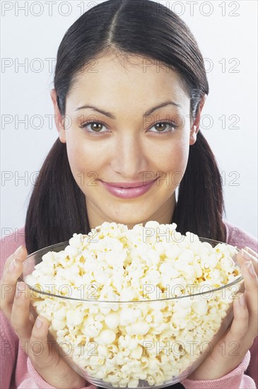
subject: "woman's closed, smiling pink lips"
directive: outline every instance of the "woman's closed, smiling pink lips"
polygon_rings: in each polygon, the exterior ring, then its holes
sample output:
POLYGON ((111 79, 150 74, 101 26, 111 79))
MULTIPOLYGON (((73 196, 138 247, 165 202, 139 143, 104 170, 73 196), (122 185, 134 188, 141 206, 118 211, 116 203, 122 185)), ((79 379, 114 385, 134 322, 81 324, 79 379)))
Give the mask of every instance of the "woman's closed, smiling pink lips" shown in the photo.
MULTIPOLYGON (((157 178, 156 178, 157 180, 157 178)), ((148 192, 154 182, 148 182, 148 184, 144 184, 141 181, 134 182, 104 182, 101 181, 104 187, 108 190, 108 192, 114 194, 117 197, 121 197, 123 199, 134 199, 135 197, 139 197, 142 194, 148 192)))

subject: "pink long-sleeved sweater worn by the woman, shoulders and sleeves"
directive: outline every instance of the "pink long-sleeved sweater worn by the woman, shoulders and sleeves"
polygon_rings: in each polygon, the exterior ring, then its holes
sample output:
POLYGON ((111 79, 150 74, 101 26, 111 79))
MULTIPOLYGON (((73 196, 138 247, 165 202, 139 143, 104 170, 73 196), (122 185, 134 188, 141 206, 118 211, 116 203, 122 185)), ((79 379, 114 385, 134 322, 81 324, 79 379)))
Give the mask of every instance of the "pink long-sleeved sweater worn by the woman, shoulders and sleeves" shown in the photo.
MULTIPOLYGON (((240 228, 225 222, 226 243, 244 248, 249 246, 257 252, 257 240, 240 228)), ((10 236, 1 239, 1 274, 6 258, 20 245, 25 245, 24 228, 16 229, 10 236)), ((55 389, 46 383, 35 371, 28 356, 20 346, 19 339, 11 324, 1 313, 1 389, 55 389)), ((241 364, 226 376, 213 381, 192 381, 185 379, 182 385, 186 389, 257 389, 258 388, 258 337, 254 340, 241 364), (244 372, 246 371, 246 374, 244 372)), ((87 389, 96 389, 86 383, 87 389)), ((83 388, 82 388, 83 389, 83 388)))

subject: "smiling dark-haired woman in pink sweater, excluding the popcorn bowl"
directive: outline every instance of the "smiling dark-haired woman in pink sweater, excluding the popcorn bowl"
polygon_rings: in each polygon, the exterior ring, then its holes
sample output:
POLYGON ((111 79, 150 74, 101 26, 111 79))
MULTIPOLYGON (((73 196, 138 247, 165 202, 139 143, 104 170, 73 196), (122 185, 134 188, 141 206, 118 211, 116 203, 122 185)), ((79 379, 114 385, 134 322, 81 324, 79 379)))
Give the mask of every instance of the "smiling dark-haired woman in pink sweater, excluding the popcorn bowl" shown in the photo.
POLYGON ((225 353, 218 344, 174 388, 256 387, 257 243, 240 229, 235 236, 235 227, 223 221, 221 178, 199 131, 208 93, 197 42, 165 6, 105 1, 66 32, 51 93, 59 139, 31 196, 25 241, 11 237, 2 248, 3 388, 94 386, 50 349, 47 320, 34 323, 29 315, 28 290, 23 282, 16 286, 26 249, 88 233, 103 221, 131 228, 148 220, 245 248, 238 260, 246 291, 221 339, 225 353), (232 342, 240 344, 234 356, 232 342))

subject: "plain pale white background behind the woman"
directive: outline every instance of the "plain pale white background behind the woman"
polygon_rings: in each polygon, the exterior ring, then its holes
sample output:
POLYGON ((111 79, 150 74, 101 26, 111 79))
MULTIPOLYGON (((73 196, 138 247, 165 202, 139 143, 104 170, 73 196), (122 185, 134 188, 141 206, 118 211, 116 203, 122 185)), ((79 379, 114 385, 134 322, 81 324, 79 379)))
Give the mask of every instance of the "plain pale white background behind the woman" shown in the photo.
MULTIPOLYGON (((210 93, 201 129, 223 175, 226 219, 257 236, 257 1, 158 2, 189 25, 205 58, 210 93)), ((52 59, 82 7, 97 4, 52 1, 49 15, 48 3, 1 1, 1 236, 24 225, 33 182, 57 139, 46 116, 54 114, 52 59)))

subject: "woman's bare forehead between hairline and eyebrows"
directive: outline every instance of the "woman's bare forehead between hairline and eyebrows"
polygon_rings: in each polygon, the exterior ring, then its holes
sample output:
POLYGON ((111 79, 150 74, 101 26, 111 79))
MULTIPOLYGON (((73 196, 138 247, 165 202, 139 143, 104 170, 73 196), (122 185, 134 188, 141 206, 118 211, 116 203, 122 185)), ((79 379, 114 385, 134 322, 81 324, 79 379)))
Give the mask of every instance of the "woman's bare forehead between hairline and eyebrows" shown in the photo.
POLYGON ((100 91, 102 94, 127 91, 139 97, 151 91, 181 97, 187 93, 178 71, 137 54, 110 54, 92 59, 76 74, 67 98, 100 91))

